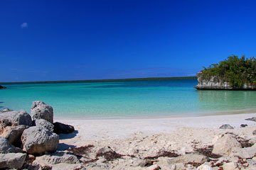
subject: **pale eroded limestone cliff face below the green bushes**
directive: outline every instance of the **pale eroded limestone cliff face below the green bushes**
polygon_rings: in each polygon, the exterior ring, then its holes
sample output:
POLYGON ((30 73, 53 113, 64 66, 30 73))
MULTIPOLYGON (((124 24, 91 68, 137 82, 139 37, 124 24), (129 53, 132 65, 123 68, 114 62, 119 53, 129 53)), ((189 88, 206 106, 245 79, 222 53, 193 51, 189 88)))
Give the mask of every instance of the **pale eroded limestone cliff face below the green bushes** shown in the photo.
POLYGON ((221 81, 218 77, 210 77, 210 80, 202 78, 202 72, 198 72, 198 85, 194 86, 196 89, 202 90, 256 90, 254 87, 244 84, 242 89, 235 89, 228 84, 227 81, 221 81))

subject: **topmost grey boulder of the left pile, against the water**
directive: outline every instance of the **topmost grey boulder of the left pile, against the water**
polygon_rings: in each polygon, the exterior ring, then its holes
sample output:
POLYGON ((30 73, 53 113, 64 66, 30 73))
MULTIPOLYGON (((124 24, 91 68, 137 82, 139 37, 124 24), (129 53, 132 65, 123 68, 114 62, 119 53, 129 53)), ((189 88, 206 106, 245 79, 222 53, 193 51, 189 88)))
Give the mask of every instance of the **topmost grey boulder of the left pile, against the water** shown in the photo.
POLYGON ((35 119, 44 119, 53 123, 53 108, 43 101, 33 101, 31 106, 31 117, 35 119))

